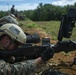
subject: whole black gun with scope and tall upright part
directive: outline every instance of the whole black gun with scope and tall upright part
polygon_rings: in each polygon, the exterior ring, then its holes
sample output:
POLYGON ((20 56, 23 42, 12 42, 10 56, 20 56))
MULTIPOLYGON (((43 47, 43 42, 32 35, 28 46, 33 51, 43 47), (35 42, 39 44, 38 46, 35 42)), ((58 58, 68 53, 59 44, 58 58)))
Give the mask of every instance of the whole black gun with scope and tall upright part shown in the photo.
POLYGON ((35 59, 41 55, 42 52, 44 52, 48 47, 52 47, 55 50, 55 53, 57 52, 69 52, 76 50, 76 43, 73 41, 62 41, 62 38, 70 38, 72 34, 73 27, 75 25, 75 9, 70 9, 66 15, 62 17, 59 34, 58 34, 58 42, 55 45, 50 44, 49 38, 43 38, 42 39, 42 45, 32 45, 32 43, 40 42, 40 37, 38 34, 30 35, 28 33, 25 33, 27 35, 27 41, 26 44, 22 47, 13 50, 13 51, 3 51, 0 50, 0 58, 6 58, 10 56, 14 56, 17 58, 16 61, 21 61, 22 57, 26 57, 26 59, 35 59), (21 59, 19 59, 19 57, 21 59), (19 60, 18 60, 19 59, 19 60))

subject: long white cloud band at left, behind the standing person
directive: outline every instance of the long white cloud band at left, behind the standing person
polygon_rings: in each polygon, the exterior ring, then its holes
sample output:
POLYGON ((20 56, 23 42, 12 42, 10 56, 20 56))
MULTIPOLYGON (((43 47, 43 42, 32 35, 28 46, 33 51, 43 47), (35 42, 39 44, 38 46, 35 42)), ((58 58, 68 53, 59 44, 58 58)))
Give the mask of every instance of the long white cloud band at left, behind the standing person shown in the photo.
MULTIPOLYGON (((38 4, 20 4, 20 5, 16 5, 15 9, 20 11, 20 10, 30 10, 30 9, 36 9, 38 6, 38 4)), ((2 11, 8 11, 10 10, 11 5, 4 5, 1 6, 0 5, 0 10, 2 11)))

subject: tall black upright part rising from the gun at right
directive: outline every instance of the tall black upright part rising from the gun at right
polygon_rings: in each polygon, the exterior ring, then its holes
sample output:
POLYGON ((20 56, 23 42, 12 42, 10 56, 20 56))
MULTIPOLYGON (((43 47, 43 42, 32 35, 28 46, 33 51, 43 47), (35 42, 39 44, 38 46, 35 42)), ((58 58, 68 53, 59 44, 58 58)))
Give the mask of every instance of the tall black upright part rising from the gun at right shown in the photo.
POLYGON ((73 27, 75 27, 76 11, 69 9, 68 13, 63 15, 61 25, 58 33, 58 40, 62 41, 62 38, 70 38, 72 35, 73 27))

